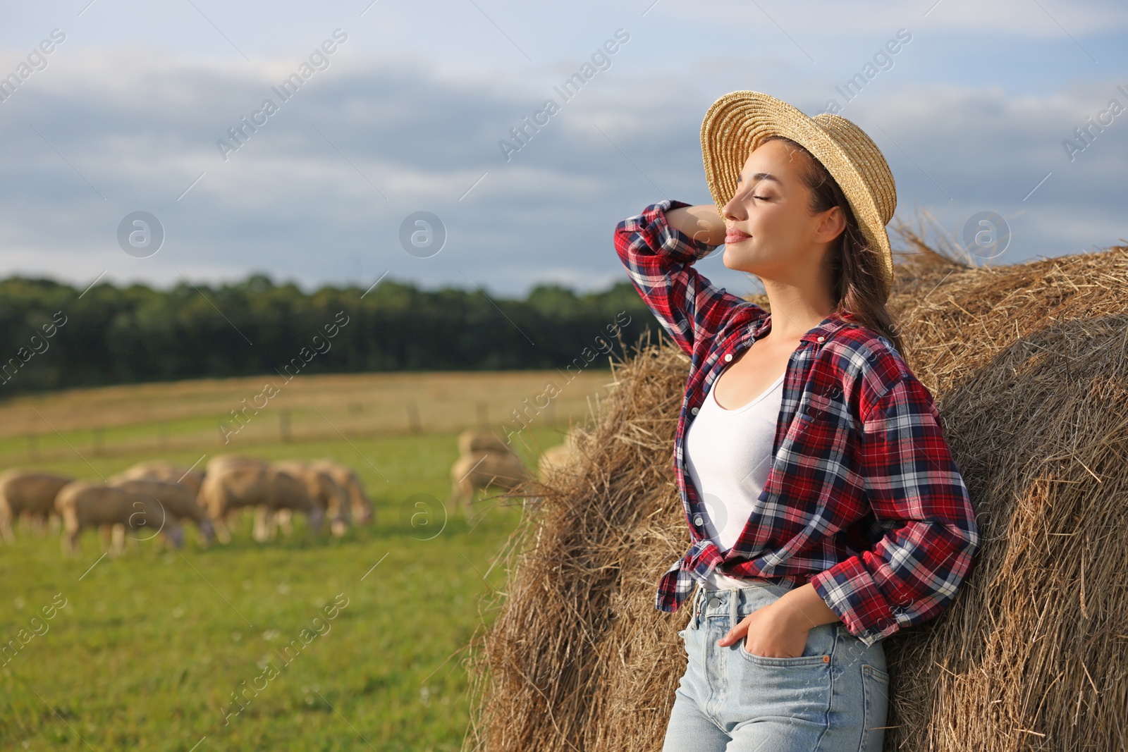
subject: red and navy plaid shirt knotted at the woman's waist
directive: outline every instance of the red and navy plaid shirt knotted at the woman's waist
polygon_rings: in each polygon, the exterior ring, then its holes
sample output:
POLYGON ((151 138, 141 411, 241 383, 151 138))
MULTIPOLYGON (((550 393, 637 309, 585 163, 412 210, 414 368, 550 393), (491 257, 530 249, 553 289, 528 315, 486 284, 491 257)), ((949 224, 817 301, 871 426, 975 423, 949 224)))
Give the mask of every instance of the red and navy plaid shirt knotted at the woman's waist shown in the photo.
POLYGON ((713 286, 693 263, 717 246, 666 222, 663 201, 619 222, 615 249, 635 289, 690 357, 675 472, 691 546, 662 575, 655 608, 677 611, 714 568, 795 587, 810 582, 866 645, 936 616, 955 595, 979 529, 932 395, 887 338, 832 313, 791 355, 756 511, 726 552, 686 483, 684 436, 729 362, 772 329, 763 308, 713 286))

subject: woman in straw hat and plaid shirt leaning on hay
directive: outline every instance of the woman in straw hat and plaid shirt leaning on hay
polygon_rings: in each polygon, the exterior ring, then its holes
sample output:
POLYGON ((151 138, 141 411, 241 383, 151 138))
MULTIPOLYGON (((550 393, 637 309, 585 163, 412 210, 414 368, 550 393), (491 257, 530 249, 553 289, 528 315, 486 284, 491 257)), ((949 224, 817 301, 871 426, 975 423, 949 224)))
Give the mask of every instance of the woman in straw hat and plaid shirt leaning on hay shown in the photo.
POLYGON ((675 462, 693 545, 655 607, 697 591, 664 749, 880 750, 880 640, 936 616, 979 546, 885 308, 893 177, 852 122, 756 91, 714 103, 702 147, 716 206, 663 201, 615 236, 690 356, 675 462), (694 269, 721 244, 770 315, 694 269))

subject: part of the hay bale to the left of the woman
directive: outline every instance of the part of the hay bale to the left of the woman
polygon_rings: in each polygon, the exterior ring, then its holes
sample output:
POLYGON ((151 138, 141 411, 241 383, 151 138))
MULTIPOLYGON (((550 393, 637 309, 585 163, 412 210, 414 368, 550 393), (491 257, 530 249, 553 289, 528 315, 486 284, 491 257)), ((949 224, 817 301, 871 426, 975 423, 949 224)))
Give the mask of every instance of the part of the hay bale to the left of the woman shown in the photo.
MULTIPOLYGON (((538 752, 603 749, 592 746, 592 734, 615 729, 589 716, 606 717, 605 702, 629 698, 634 705, 647 695, 650 708, 640 708, 636 728, 653 731, 654 714, 672 692, 678 649, 678 627, 653 609, 653 581, 662 559, 681 554, 686 537, 668 466, 687 368, 680 351, 645 344, 629 365, 613 365, 614 390, 599 401, 590 435, 578 442, 579 457, 541 488, 539 512, 514 532, 509 596, 470 654, 482 728, 473 737, 488 750, 538 752), (647 516, 654 511, 663 513, 647 516), (646 642, 624 639, 624 628, 647 630, 646 642), (616 699, 613 684, 629 681, 620 648, 634 648, 653 671, 616 699)), ((618 749, 646 749, 635 746, 637 740, 631 734, 618 749)))

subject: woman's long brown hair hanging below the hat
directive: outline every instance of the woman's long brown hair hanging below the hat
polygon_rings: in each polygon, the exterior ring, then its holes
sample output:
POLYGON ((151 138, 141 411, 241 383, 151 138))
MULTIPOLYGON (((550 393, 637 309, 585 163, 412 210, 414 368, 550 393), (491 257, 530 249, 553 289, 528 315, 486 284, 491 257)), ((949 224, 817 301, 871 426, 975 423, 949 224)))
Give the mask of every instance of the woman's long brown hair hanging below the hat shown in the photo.
POLYGON ((854 211, 838 182, 822 162, 801 144, 782 135, 769 135, 760 144, 768 141, 784 141, 807 156, 800 176, 811 191, 811 202, 808 206, 811 214, 839 206, 846 218, 846 229, 829 255, 835 311, 851 313, 858 324, 870 327, 893 343, 897 352, 904 355, 905 348, 897 330, 897 322, 885 307, 885 301, 892 291, 881 273, 882 262, 878 256, 880 250, 866 244, 865 236, 862 235, 854 211))

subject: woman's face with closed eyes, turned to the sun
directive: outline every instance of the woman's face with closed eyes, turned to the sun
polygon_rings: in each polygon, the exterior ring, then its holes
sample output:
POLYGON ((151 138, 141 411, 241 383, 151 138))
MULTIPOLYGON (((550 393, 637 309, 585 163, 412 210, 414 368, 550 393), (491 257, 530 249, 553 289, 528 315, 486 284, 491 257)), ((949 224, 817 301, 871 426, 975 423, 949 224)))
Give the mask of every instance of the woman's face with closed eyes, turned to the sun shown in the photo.
POLYGON ((779 281, 821 268, 829 242, 846 224, 837 206, 810 214, 811 192, 800 176, 804 157, 783 141, 768 141, 749 154, 737 193, 721 212, 728 228, 725 266, 779 281))

